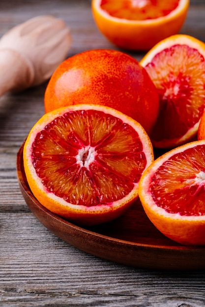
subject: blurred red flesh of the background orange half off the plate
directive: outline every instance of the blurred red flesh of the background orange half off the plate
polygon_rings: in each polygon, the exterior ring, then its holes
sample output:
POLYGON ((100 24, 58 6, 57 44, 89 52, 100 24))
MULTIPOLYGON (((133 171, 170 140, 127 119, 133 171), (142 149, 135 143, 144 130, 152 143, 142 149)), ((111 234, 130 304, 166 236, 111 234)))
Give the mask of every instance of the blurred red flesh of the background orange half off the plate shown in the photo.
POLYGON ((102 0, 100 6, 113 17, 127 20, 149 20, 167 16, 179 0, 102 0))

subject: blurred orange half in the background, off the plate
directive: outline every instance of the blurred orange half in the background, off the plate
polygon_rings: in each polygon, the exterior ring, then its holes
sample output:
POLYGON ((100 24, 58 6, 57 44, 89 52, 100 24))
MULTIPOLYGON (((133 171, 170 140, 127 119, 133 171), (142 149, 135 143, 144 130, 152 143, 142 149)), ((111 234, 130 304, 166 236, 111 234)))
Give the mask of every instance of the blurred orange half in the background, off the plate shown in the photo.
POLYGON ((99 30, 115 45, 149 50, 182 27, 189 0, 92 0, 99 30))

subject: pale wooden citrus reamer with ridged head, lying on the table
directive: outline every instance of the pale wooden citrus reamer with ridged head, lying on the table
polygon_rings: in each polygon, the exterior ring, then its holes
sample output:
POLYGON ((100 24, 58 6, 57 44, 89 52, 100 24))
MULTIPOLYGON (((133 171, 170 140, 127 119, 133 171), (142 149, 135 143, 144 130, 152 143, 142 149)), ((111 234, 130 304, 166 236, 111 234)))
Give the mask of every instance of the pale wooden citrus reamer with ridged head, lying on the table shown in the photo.
POLYGON ((70 45, 69 28, 53 16, 38 16, 13 27, 0 39, 0 96, 51 77, 70 45))

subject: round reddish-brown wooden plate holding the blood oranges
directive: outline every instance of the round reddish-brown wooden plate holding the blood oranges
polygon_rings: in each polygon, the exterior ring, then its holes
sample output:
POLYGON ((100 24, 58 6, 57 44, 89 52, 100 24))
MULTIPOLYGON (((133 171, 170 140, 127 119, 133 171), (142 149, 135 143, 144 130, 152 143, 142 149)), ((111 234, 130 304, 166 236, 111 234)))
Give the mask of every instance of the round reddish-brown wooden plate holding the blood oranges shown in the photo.
POLYGON ((205 247, 182 246, 165 237, 148 220, 140 201, 112 222, 86 228, 47 210, 29 189, 23 166, 23 146, 17 155, 20 189, 36 218, 59 238, 89 254, 133 267, 205 269, 205 247))

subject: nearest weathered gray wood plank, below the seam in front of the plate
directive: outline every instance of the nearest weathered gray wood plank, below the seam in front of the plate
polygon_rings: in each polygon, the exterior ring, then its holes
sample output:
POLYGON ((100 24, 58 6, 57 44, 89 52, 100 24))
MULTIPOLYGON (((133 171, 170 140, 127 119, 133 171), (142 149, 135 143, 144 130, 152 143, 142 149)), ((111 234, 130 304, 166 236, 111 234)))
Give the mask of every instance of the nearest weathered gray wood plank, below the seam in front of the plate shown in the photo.
POLYGON ((3 306, 205 304, 204 273, 137 270, 101 260, 55 237, 31 213, 0 214, 0 234, 7 241, 0 240, 3 306))

